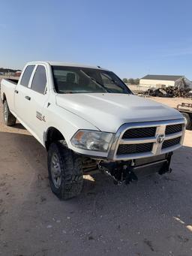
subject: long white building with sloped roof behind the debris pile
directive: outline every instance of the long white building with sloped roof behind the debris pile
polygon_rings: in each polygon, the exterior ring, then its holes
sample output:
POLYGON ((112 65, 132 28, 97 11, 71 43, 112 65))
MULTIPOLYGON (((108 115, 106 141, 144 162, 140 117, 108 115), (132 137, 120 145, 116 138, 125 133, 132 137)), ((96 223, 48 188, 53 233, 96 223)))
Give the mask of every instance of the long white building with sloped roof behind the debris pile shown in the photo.
POLYGON ((169 76, 148 74, 139 80, 139 86, 157 87, 157 86, 175 86, 181 80, 187 80, 184 76, 169 76))

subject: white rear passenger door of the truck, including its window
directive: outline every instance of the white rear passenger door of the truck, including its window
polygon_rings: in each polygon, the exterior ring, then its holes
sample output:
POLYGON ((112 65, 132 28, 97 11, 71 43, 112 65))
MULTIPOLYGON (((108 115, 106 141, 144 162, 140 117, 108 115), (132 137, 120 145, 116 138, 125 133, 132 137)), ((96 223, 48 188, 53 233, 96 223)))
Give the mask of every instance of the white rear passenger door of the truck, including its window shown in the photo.
POLYGON ((35 65, 28 65, 23 72, 20 83, 18 83, 14 90, 14 109, 17 118, 30 128, 30 84, 32 73, 34 72, 35 65))

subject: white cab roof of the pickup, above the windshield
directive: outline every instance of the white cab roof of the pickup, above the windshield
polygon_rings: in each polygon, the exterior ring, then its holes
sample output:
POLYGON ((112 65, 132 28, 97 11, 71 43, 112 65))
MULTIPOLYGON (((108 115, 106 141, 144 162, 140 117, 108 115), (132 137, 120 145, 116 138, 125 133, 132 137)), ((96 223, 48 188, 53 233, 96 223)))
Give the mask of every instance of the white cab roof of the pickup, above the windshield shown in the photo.
POLYGON ((89 66, 80 63, 68 63, 68 62, 28 62, 27 65, 31 64, 49 64, 51 66, 65 66, 65 67, 76 67, 76 68, 94 68, 107 71, 106 68, 101 68, 100 66, 89 66))

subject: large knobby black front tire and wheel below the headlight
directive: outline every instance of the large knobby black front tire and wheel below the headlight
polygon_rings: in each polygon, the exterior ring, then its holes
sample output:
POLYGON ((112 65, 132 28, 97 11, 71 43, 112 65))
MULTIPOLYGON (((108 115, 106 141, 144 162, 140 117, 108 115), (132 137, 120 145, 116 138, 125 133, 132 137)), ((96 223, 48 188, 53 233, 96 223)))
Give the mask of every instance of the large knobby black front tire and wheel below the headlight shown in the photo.
POLYGON ((62 200, 76 197, 83 188, 82 158, 65 144, 52 143, 48 151, 49 182, 52 192, 62 200))

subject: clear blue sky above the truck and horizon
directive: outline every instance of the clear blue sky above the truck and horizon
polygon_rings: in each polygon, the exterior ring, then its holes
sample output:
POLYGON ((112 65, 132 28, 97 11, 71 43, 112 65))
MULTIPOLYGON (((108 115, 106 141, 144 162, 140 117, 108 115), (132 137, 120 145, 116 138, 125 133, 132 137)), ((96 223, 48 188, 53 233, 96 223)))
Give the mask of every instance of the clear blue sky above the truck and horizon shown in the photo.
POLYGON ((49 60, 192 80, 191 10, 190 0, 1 0, 0 67, 49 60))

